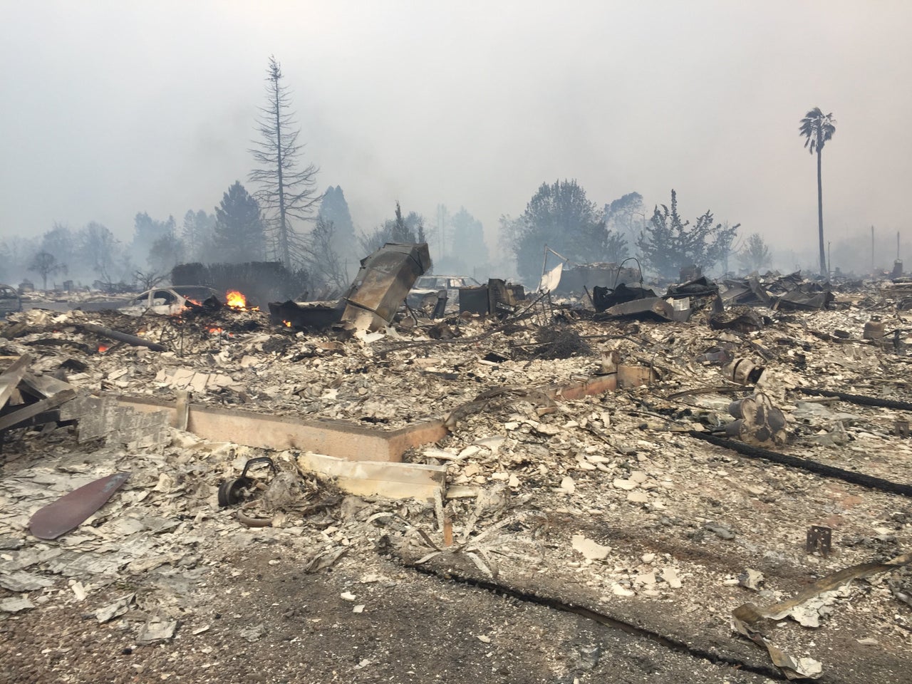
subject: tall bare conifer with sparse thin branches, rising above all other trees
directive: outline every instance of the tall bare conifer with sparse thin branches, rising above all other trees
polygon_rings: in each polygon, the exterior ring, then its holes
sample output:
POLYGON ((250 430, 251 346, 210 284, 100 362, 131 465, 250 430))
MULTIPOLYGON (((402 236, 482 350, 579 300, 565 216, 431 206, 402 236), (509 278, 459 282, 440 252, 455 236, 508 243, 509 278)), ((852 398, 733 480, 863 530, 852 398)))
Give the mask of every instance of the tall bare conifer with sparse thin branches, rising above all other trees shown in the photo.
POLYGON ((302 161, 304 145, 290 111, 288 88, 281 84, 282 67, 269 57, 266 68, 266 104, 256 119, 260 140, 251 153, 256 168, 250 181, 258 186, 254 193, 266 216, 278 259, 285 268, 305 261, 305 240, 293 222, 311 218, 320 194, 316 192, 316 166, 302 161))

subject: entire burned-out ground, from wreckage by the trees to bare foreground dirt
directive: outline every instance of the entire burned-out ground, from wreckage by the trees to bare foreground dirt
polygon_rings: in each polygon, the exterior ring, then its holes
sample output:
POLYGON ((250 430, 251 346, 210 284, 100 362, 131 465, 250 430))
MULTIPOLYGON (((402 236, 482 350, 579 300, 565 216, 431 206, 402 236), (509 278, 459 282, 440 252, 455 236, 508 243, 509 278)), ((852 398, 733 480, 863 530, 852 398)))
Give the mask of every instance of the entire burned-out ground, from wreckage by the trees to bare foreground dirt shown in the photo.
POLYGON ((361 264, 21 295, 7 680, 907 680, 912 280, 361 264))

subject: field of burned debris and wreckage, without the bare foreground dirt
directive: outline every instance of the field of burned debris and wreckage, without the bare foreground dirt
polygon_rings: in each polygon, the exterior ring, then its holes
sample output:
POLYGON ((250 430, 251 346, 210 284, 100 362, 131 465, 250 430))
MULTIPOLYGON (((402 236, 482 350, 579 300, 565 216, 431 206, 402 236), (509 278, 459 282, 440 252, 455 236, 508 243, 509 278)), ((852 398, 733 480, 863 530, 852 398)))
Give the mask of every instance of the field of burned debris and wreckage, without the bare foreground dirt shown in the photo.
MULTIPOLYGON (((855 596, 864 611, 834 630, 907 640, 912 287, 689 273, 660 289, 615 270, 610 287, 492 279, 406 306, 429 264, 426 244, 388 244, 328 302, 7 315, 0 610, 69 600, 63 576, 79 595, 98 573, 179 563, 188 534, 268 527, 294 531, 308 572, 382 549, 523 596, 545 573, 548 600, 762 671, 752 641, 790 679, 848 666, 785 654, 772 621, 815 652, 786 618, 820 627, 855 596), (57 562, 54 540, 87 524, 117 544, 57 562), (650 623, 656 602, 731 621, 650 623)), ((127 610, 111 606, 99 623, 127 610)), ((180 619, 149 617, 142 643, 180 619)))

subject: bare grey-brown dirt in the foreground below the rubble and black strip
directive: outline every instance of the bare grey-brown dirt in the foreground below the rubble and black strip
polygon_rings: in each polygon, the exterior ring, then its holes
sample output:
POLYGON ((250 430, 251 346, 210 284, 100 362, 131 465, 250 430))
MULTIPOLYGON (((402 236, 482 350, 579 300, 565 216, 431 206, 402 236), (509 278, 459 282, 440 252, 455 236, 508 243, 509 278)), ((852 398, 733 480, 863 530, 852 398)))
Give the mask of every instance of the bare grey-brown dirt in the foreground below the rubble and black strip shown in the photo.
MULTIPOLYGON (((88 606, 78 603, 13 617, 0 627, 0 679, 19 684, 767 679, 587 617, 419 574, 379 555, 369 576, 344 561, 306 575, 297 569, 302 561, 295 558, 294 545, 284 544, 251 544, 228 554, 192 588, 192 615, 161 644, 138 645, 129 614, 123 624, 98 625, 88 606), (356 598, 345 600, 343 594, 356 598), (365 606, 363 612, 353 612, 356 605, 365 606)), ((148 589, 112 586, 97 603, 125 592, 142 596, 148 589)))

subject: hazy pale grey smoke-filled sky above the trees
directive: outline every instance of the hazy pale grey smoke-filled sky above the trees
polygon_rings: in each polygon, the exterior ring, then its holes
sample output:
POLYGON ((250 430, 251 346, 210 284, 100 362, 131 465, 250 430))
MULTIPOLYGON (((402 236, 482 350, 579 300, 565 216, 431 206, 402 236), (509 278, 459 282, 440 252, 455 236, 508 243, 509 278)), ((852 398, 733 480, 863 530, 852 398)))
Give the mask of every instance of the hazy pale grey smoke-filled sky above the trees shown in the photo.
MULTIPOLYGON (((798 136, 832 111, 824 221, 907 234, 907 2, 0 0, 0 238, 55 221, 129 238, 136 212, 212 208, 251 167, 275 54, 318 185, 370 229, 398 199, 489 235, 543 181, 602 204, 671 188, 815 254, 816 167, 798 136)), ((252 188, 249 188, 252 190, 252 188)))

